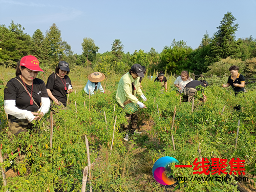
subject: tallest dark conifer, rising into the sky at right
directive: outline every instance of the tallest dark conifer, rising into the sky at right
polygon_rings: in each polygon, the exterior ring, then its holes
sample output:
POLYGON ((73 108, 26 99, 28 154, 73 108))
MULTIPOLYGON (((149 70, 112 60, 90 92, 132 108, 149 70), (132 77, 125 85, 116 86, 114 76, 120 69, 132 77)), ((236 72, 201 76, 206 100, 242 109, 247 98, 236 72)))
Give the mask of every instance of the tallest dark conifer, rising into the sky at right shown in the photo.
POLYGON ((214 36, 210 44, 211 56, 210 62, 219 61, 221 58, 239 58, 241 56, 241 50, 236 42, 236 31, 238 30, 238 24, 234 21, 237 20, 231 12, 227 12, 221 20, 219 29, 214 36))

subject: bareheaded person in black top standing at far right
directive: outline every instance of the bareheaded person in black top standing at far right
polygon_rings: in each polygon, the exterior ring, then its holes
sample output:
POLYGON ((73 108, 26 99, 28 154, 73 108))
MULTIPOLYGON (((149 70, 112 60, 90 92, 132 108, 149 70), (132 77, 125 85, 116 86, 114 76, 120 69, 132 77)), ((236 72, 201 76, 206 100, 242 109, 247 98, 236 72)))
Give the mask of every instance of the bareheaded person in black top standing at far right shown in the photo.
MULTIPOLYGON (((242 74, 238 73, 239 67, 231 66, 228 71, 230 71, 230 76, 228 77, 227 84, 222 84, 223 88, 231 86, 234 90, 234 94, 237 96, 239 93, 244 92, 245 78, 242 74)), ((236 110, 240 110, 241 106, 237 105, 234 107, 236 110)))

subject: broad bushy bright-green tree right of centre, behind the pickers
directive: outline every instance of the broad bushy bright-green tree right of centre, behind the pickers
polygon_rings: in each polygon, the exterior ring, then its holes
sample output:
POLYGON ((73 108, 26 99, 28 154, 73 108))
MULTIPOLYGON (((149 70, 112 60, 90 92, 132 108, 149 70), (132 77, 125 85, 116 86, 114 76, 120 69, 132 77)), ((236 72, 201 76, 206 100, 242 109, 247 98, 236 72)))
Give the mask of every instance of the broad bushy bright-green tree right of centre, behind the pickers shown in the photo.
POLYGON ((188 56, 192 49, 186 45, 183 40, 172 42, 172 46, 165 46, 161 55, 161 67, 167 67, 167 72, 179 74, 181 71, 188 68, 188 56))

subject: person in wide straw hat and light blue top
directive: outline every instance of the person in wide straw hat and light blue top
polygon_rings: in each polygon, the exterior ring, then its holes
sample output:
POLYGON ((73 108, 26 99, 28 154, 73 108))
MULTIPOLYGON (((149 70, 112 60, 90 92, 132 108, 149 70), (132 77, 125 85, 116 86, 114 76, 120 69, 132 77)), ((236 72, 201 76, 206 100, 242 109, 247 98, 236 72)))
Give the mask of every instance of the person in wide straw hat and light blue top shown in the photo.
POLYGON ((89 95, 89 93, 91 95, 94 95, 94 91, 100 90, 101 93, 105 93, 100 81, 103 81, 105 79, 105 75, 103 73, 100 72, 94 72, 91 73, 88 76, 88 81, 86 86, 83 88, 83 90, 89 95))

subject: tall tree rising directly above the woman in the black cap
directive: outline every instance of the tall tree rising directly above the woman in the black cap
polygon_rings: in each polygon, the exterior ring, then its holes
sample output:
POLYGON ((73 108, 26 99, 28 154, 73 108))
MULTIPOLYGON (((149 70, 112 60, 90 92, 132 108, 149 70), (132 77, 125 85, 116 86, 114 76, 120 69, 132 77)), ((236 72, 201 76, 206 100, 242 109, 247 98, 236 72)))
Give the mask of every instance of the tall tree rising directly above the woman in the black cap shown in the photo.
POLYGON ((50 29, 46 31, 46 40, 50 48, 49 55, 55 62, 59 61, 64 54, 65 48, 62 46, 61 31, 56 24, 52 24, 50 29))

